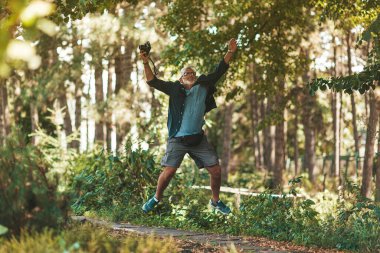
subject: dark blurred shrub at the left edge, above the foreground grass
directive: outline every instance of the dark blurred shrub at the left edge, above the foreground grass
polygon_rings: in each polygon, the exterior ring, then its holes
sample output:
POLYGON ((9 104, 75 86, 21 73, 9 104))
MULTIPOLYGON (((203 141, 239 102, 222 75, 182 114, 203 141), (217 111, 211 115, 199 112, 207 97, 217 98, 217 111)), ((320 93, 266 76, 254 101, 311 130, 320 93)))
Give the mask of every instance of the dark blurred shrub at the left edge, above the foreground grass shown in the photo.
POLYGON ((62 224, 65 198, 57 193, 57 181, 39 149, 14 130, 0 154, 0 224, 11 233, 62 224))

